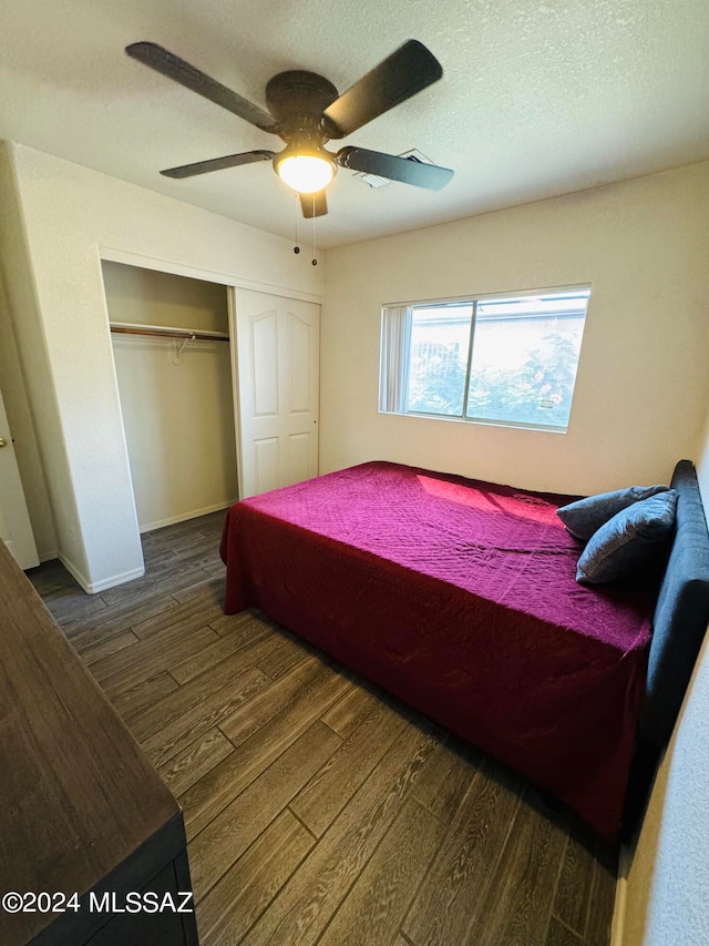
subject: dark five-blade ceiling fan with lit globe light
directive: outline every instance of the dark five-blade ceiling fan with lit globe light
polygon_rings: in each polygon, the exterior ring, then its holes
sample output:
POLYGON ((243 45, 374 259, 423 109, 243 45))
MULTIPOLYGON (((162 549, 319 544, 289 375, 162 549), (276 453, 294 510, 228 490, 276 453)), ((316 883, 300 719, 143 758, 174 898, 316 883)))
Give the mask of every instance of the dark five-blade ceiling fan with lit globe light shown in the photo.
POLYGON ((279 135, 286 143, 279 152, 245 151, 169 167, 161 171, 166 177, 192 177, 224 167, 271 161, 278 176, 300 194, 304 216, 314 217, 328 212, 325 187, 338 167, 434 191, 445 186, 453 176, 448 167, 380 151, 347 146, 332 153, 325 148, 330 139, 346 138, 441 78, 441 64, 418 40, 408 40, 342 95, 331 82, 315 72, 279 72, 266 85, 268 112, 156 43, 136 42, 125 51, 256 128, 279 135))

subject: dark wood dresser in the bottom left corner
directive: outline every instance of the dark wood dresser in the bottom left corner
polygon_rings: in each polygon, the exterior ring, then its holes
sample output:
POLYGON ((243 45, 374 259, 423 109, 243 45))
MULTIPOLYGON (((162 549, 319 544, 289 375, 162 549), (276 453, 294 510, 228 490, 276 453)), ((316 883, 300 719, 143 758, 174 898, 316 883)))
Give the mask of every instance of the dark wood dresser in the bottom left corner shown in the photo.
POLYGON ((0 944, 196 946, 191 889, 177 803, 0 541, 0 944))

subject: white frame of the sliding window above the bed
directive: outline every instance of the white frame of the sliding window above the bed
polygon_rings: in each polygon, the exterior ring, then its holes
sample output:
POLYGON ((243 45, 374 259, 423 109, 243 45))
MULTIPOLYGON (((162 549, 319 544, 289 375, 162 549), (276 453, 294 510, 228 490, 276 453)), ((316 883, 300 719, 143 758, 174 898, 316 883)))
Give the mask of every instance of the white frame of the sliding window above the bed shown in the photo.
MULTIPOLYGON (((574 396, 576 394, 576 380, 578 376, 578 368, 580 365, 582 352, 583 352, 583 342, 584 335, 586 330, 586 318, 588 316, 588 308, 590 306, 590 295, 592 295, 592 284, 590 283, 578 283, 569 286, 554 286, 554 287, 545 287, 545 288, 535 288, 535 289, 522 289, 518 292, 500 292, 500 293, 480 293, 470 296, 452 296, 449 298, 432 298, 432 299, 414 299, 408 302, 399 302, 399 303, 386 303, 381 307, 381 333, 383 337, 384 332, 384 322, 387 317, 387 311, 390 308, 405 308, 407 309, 407 322, 408 325, 404 329, 404 339, 405 339, 405 349, 402 359, 402 368, 403 376, 401 379, 401 397, 400 397, 400 410, 387 409, 382 407, 382 398, 381 398, 381 388, 380 388, 380 401, 379 401, 379 414, 391 414, 400 417, 421 417, 428 420, 453 420, 453 421, 463 421, 466 424, 480 424, 484 427, 510 427, 514 429, 521 430, 538 430, 542 433, 548 434, 567 434, 572 419, 572 410, 574 406, 574 396), (542 424, 540 421, 534 423, 525 423, 520 420, 492 420, 485 417, 474 417, 467 415, 467 403, 470 396, 470 382, 473 370, 473 349, 475 343, 475 323, 477 318, 477 306, 479 303, 485 302, 495 302, 495 301, 517 301, 524 298, 534 298, 534 297, 545 297, 545 296, 563 296, 565 294, 576 294, 576 293, 587 293, 586 298, 586 311, 584 314, 584 326, 582 329, 580 344, 578 349, 578 360, 576 363, 576 372, 574 375, 574 388, 572 393, 572 404, 569 407, 568 421, 566 425, 563 424, 542 424), (464 380, 464 389, 463 389, 463 406, 461 414, 436 414, 434 411, 425 411, 425 410, 408 410, 407 403, 409 399, 409 378, 410 378, 410 358, 411 358, 411 326, 412 326, 412 317, 413 311, 417 308, 443 308, 443 307, 454 307, 461 305, 470 305, 471 306, 471 321, 470 321, 470 336, 467 339, 467 360, 465 363, 465 380, 464 380)), ((383 370, 382 363, 383 348, 380 347, 380 379, 383 370)), ((381 383, 381 380, 380 380, 381 383)))

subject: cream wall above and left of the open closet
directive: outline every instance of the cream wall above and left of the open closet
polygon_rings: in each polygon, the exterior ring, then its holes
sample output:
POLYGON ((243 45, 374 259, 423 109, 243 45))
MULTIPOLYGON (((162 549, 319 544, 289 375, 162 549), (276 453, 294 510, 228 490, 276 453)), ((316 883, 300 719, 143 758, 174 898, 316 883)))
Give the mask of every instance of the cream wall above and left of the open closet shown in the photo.
POLYGON ((11 144, 32 304, 10 299, 59 552, 91 591, 140 574, 143 558, 121 420, 101 258, 319 301, 322 267, 286 240, 11 144))

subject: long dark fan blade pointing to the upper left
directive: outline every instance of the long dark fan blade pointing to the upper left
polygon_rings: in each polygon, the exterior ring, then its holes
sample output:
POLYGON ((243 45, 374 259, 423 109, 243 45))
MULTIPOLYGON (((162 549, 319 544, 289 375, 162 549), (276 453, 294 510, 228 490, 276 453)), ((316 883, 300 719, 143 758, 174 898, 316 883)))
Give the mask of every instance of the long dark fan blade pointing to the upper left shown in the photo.
POLYGON ((194 65, 189 65, 184 59, 179 59, 162 45, 152 42, 137 42, 126 45, 125 51, 130 57, 142 62, 143 65, 162 72, 168 79, 192 89, 193 92, 209 99, 210 102, 215 102, 228 112, 233 112, 240 119, 256 125, 256 128, 278 134, 280 126, 268 112, 227 89, 226 85, 222 85, 215 79, 205 75, 204 72, 195 69, 194 65))

